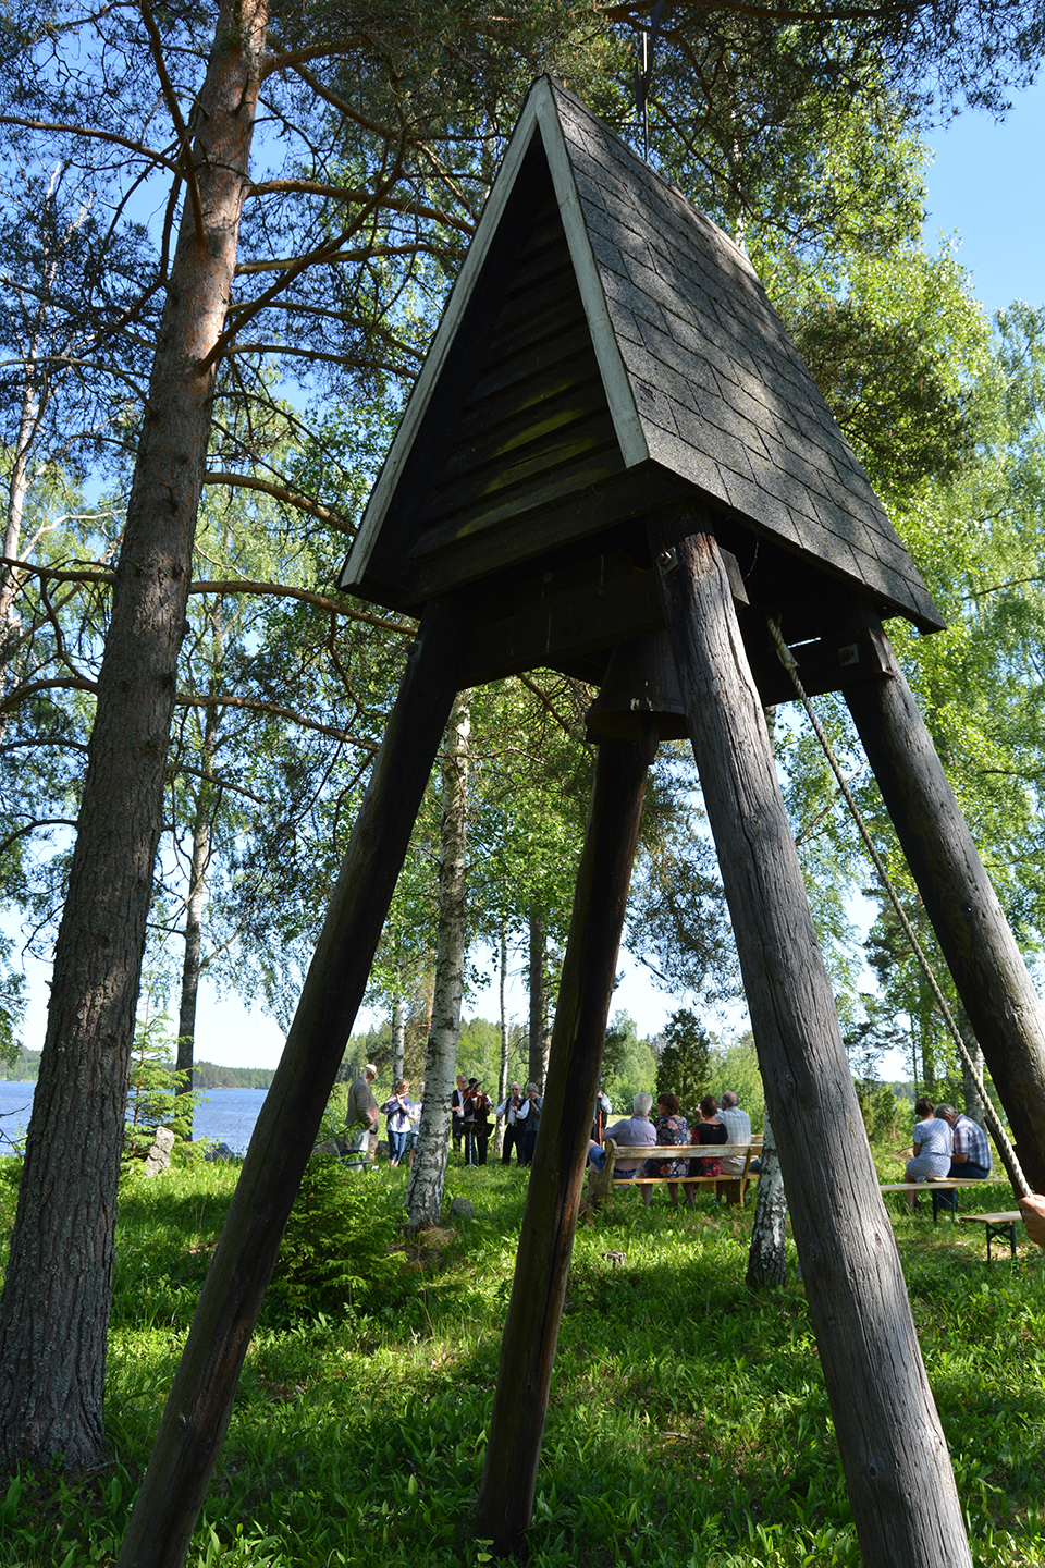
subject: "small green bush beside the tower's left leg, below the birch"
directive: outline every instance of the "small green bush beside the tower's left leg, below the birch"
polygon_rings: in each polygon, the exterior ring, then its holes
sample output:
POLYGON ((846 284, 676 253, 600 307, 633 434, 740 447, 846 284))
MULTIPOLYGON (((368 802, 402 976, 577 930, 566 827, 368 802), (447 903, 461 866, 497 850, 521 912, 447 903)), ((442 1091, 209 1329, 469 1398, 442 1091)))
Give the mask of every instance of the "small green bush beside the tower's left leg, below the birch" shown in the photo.
POLYGON ((389 1193, 340 1159, 313 1156, 284 1231, 265 1322, 285 1327, 395 1301, 404 1264, 393 1251, 400 1234, 398 1187, 389 1193))

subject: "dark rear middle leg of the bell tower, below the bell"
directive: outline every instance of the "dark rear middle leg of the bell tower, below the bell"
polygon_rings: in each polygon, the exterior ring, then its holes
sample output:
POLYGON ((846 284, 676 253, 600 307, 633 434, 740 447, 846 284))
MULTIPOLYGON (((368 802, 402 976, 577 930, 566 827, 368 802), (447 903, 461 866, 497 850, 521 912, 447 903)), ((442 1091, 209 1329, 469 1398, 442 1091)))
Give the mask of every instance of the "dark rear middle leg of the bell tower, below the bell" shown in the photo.
POLYGON ((476 1504, 476 1538, 498 1546, 517 1544, 533 1513, 647 756, 627 740, 598 746, 476 1504))

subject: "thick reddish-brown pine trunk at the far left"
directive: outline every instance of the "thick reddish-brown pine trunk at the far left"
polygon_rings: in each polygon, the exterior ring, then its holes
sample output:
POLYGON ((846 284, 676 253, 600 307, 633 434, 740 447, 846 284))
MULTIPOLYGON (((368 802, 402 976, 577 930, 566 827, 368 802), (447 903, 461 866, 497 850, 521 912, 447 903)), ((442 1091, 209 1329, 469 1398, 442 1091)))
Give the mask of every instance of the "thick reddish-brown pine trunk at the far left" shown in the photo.
POLYGON ((0 1305, 3 1461, 105 1461, 116 1187, 215 370, 248 190, 265 0, 222 0, 116 569, 0 1305))

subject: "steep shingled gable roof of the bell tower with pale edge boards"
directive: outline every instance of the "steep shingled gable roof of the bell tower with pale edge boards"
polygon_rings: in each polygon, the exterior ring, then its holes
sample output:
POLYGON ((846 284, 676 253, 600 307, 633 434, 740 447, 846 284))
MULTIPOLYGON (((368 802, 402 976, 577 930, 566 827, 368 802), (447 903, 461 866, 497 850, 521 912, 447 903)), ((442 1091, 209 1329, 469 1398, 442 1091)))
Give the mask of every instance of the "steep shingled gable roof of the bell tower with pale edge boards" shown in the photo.
MULTIPOLYGON (((515 387, 522 375, 512 370, 515 387)), ((548 519, 544 532, 533 519, 547 514, 553 472, 567 475, 567 500, 586 500, 561 510, 556 538, 696 491, 884 613, 923 630, 943 624, 747 257, 583 103, 541 78, 340 586, 417 608, 456 582, 539 557, 548 519), (572 278, 551 307, 547 279, 562 270, 572 278), (519 315, 525 289, 545 317, 559 312, 544 331, 539 315, 519 315), (567 397, 569 378, 556 379, 551 362, 577 326, 584 343, 567 397), (511 411, 498 414, 495 401, 512 328, 534 397, 551 409, 558 397, 562 408, 530 417, 525 430, 519 392, 511 411), (581 386, 592 389, 586 400, 581 386), (501 420, 494 434, 483 428, 487 416, 501 420)))

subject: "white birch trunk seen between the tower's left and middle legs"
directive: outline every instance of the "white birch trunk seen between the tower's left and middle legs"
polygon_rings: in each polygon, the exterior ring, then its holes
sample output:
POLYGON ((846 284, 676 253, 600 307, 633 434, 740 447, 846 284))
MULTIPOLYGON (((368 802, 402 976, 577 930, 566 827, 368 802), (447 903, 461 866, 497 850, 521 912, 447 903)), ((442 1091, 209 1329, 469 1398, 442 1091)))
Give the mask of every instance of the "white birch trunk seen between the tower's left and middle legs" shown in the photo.
POLYGON ((407 1223, 420 1231, 439 1225, 450 1154, 451 1096, 457 1040, 461 1038, 461 997, 464 993, 464 953, 467 947, 468 891, 468 735, 472 718, 468 693, 462 693, 447 724, 442 776, 443 803, 439 848, 439 927, 436 930, 436 985, 432 1027, 425 1057, 425 1099, 417 1149, 406 1189, 407 1223))

